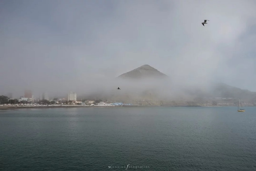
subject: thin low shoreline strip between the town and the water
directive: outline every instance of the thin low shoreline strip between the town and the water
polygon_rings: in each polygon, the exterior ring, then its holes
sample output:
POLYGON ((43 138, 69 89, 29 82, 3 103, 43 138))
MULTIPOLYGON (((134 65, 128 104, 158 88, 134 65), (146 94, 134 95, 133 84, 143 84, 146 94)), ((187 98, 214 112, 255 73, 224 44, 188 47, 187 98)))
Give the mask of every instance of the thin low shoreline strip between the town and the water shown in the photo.
POLYGON ((70 106, 0 106, 1 111, 14 111, 20 109, 45 109, 45 108, 81 108, 81 107, 235 107, 235 106, 81 106, 81 105, 70 105, 70 106))

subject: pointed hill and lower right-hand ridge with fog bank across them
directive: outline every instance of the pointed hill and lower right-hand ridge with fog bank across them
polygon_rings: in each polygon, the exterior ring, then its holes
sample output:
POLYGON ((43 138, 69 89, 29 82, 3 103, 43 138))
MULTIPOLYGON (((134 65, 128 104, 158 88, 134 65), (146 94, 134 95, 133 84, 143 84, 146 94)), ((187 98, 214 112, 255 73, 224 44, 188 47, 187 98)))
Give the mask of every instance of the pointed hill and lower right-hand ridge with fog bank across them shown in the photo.
MULTIPOLYGON (((209 103, 209 99, 212 98, 232 98, 233 100, 229 100, 228 102, 229 105, 234 105, 237 98, 239 98, 248 104, 250 103, 249 105, 254 105, 256 99, 255 92, 242 90, 224 83, 199 82, 198 84, 183 84, 183 82, 175 82, 170 79, 171 77, 168 77, 150 65, 142 65, 119 75, 117 78, 111 80, 111 83, 108 84, 109 86, 115 84, 116 86, 114 88, 106 86, 105 88, 108 87, 108 90, 101 89, 100 92, 93 92, 92 94, 88 94, 89 96, 87 97, 93 98, 97 96, 99 99, 126 103, 132 100, 144 99, 150 105, 164 105, 164 103, 160 103, 163 100, 184 100, 190 101, 194 105, 198 103, 201 105, 205 103, 208 105, 215 104, 215 102, 209 103), (121 90, 116 90, 115 88, 117 87, 120 87, 121 90), (201 100, 197 103, 198 98, 201 100)), ((172 105, 174 104, 176 103, 172 105)))

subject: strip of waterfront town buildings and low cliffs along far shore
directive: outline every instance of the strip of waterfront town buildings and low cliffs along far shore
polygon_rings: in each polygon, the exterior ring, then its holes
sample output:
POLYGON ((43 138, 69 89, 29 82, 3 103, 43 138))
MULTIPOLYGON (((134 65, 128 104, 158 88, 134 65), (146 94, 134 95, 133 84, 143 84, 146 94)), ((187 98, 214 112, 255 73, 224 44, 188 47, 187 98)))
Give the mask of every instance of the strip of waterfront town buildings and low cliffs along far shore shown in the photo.
MULTIPOLYGON (((121 98, 120 98, 121 99, 121 98)), ((233 97, 204 97, 194 99, 129 99, 129 100, 101 100, 90 98, 77 98, 77 93, 69 92, 66 98, 49 97, 43 92, 35 98, 31 90, 25 90, 24 96, 13 98, 12 93, 0 95, 0 110, 13 108, 38 108, 38 107, 121 107, 121 106, 237 106, 237 98, 233 97)), ((244 106, 254 104, 241 101, 244 106)))

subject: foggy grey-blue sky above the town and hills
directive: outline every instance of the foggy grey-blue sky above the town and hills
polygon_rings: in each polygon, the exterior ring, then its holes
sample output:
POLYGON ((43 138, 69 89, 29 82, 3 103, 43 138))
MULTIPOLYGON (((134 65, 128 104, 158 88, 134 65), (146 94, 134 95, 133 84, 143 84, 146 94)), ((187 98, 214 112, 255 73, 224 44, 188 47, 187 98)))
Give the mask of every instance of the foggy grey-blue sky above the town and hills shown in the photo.
POLYGON ((174 82, 256 91, 255 9, 253 0, 1 0, 0 94, 82 93, 144 64, 174 82))

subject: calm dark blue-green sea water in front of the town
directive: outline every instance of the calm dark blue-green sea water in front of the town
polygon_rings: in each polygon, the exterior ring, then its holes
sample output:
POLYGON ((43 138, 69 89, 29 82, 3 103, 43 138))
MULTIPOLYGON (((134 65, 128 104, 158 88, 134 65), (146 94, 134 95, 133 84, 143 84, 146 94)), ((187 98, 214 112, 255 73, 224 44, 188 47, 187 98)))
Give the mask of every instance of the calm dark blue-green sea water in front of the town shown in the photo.
POLYGON ((0 112, 0 170, 256 170, 256 107, 0 112), (136 168, 137 166, 137 168, 136 168))

